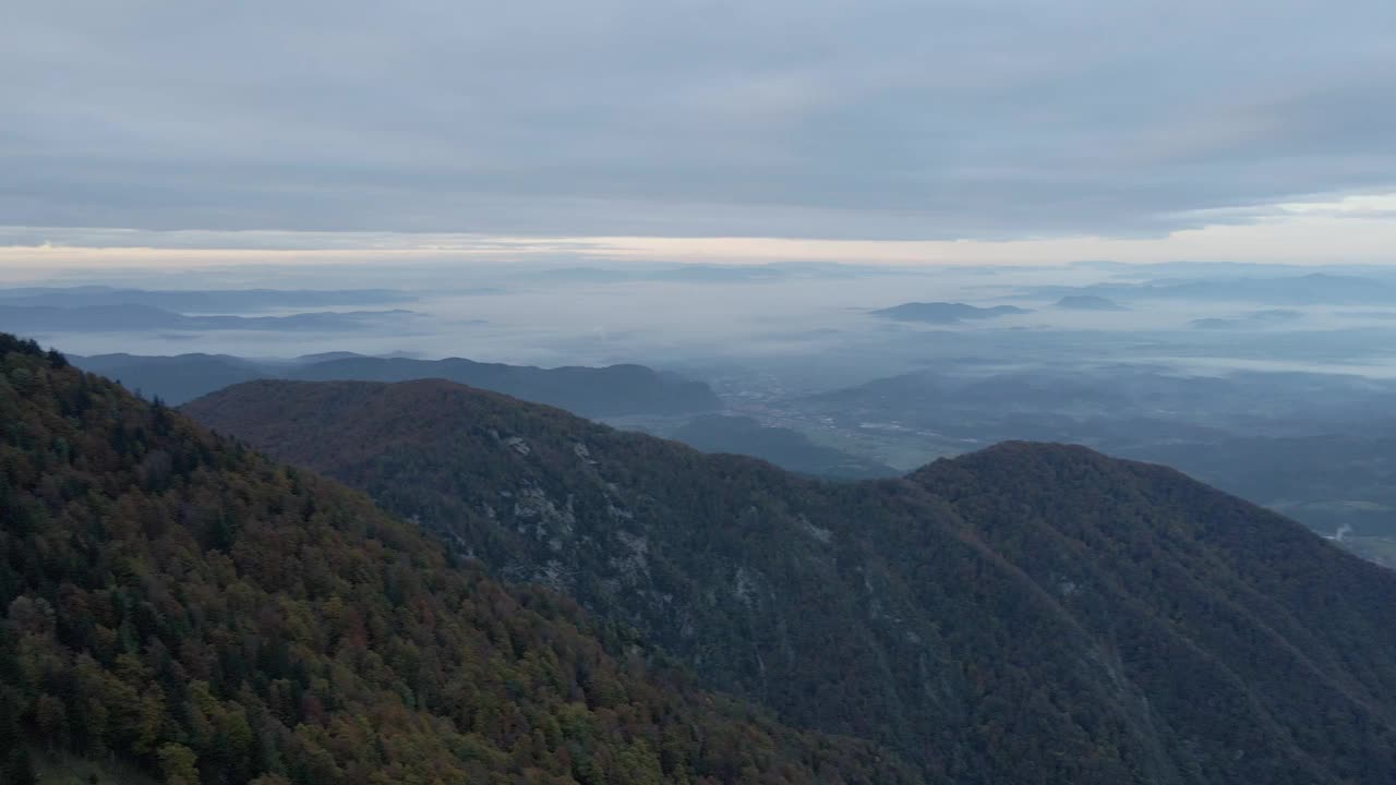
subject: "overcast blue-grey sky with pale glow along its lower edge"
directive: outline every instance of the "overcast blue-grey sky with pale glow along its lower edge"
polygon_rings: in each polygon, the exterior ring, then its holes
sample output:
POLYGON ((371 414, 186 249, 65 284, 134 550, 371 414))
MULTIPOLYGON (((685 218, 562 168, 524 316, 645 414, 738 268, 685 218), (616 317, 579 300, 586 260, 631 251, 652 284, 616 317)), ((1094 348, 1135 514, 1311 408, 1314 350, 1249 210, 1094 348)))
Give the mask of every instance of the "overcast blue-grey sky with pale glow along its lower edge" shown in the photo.
POLYGON ((0 270, 1390 261, 1396 3, 46 0, 0 270))

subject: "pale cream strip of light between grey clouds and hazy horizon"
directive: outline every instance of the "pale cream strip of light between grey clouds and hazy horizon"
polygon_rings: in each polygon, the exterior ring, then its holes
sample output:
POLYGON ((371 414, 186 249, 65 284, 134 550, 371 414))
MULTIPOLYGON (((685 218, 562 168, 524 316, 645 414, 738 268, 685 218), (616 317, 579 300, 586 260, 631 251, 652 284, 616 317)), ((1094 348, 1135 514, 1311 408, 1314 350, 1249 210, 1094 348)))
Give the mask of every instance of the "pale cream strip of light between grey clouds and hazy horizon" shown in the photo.
POLYGON ((1005 240, 831 240, 800 237, 521 237, 401 232, 202 232, 0 228, 0 274, 43 279, 102 271, 392 265, 399 263, 842 263, 874 265, 1061 265, 1231 261, 1383 264, 1396 261, 1396 194, 1277 205, 1265 215, 1156 237, 1062 236, 1005 240), (45 237, 40 243, 17 237, 45 237))

